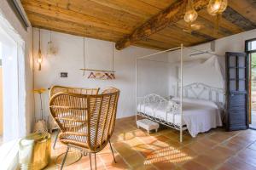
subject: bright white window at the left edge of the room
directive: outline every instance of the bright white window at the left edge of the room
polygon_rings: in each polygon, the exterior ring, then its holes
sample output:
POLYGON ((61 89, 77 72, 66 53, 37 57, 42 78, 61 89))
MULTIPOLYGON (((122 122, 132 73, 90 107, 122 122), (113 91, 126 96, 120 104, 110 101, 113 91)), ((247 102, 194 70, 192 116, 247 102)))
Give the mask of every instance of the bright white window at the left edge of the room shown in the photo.
POLYGON ((0 11, 3 56, 3 142, 26 134, 25 42, 0 11))

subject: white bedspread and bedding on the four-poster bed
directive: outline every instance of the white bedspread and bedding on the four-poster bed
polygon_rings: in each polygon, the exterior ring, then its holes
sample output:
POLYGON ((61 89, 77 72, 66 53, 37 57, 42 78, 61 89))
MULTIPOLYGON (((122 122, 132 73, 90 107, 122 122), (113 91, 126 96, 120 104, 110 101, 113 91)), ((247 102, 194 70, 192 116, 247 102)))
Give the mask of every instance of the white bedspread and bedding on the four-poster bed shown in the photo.
MULTIPOLYGON (((177 98, 172 100, 179 101, 177 98)), ((167 112, 166 118, 166 105, 164 103, 161 105, 159 103, 138 105, 137 111, 180 125, 179 113, 167 112)), ((218 105, 207 100, 183 99, 183 125, 187 126, 192 137, 198 133, 207 132, 211 128, 222 126, 218 105)))

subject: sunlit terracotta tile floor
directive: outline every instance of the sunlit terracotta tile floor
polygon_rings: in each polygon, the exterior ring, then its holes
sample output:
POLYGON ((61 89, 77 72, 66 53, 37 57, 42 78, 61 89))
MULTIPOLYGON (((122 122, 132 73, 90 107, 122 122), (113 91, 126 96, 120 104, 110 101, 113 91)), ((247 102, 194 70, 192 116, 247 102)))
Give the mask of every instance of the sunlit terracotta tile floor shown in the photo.
MULTIPOLYGON (((256 131, 224 132, 218 128, 201 133, 195 139, 189 133, 178 142, 179 133, 162 127, 158 133, 147 134, 137 129, 135 117, 119 119, 111 142, 117 163, 109 146, 96 154, 97 169, 186 169, 186 170, 253 170, 256 169, 256 131)), ((52 161, 46 169, 58 169, 55 157, 66 150, 57 143, 52 161)), ((68 159, 77 157, 71 155, 68 159)), ((94 160, 94 156, 92 157, 94 160)), ((92 161, 94 169, 94 161, 92 161)), ((64 169, 90 169, 89 156, 64 169)))

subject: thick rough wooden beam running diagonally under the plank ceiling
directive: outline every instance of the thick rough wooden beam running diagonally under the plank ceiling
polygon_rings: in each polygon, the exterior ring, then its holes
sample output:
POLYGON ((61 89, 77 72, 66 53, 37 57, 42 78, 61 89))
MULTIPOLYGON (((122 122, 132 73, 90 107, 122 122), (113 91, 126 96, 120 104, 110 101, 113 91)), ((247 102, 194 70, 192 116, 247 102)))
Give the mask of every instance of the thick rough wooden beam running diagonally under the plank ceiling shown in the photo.
MULTIPOLYGON (((202 8, 205 8, 208 3, 208 0, 195 0, 195 10, 199 11, 202 8)), ((176 3, 172 3, 168 8, 161 11, 159 14, 154 15, 142 26, 138 27, 135 31, 131 33, 131 35, 125 36, 124 38, 116 42, 115 48, 126 48, 131 44, 134 44, 135 42, 142 40, 143 38, 149 37, 155 32, 166 28, 171 23, 182 20, 185 13, 186 5, 187 0, 180 0, 176 1, 176 3)))

